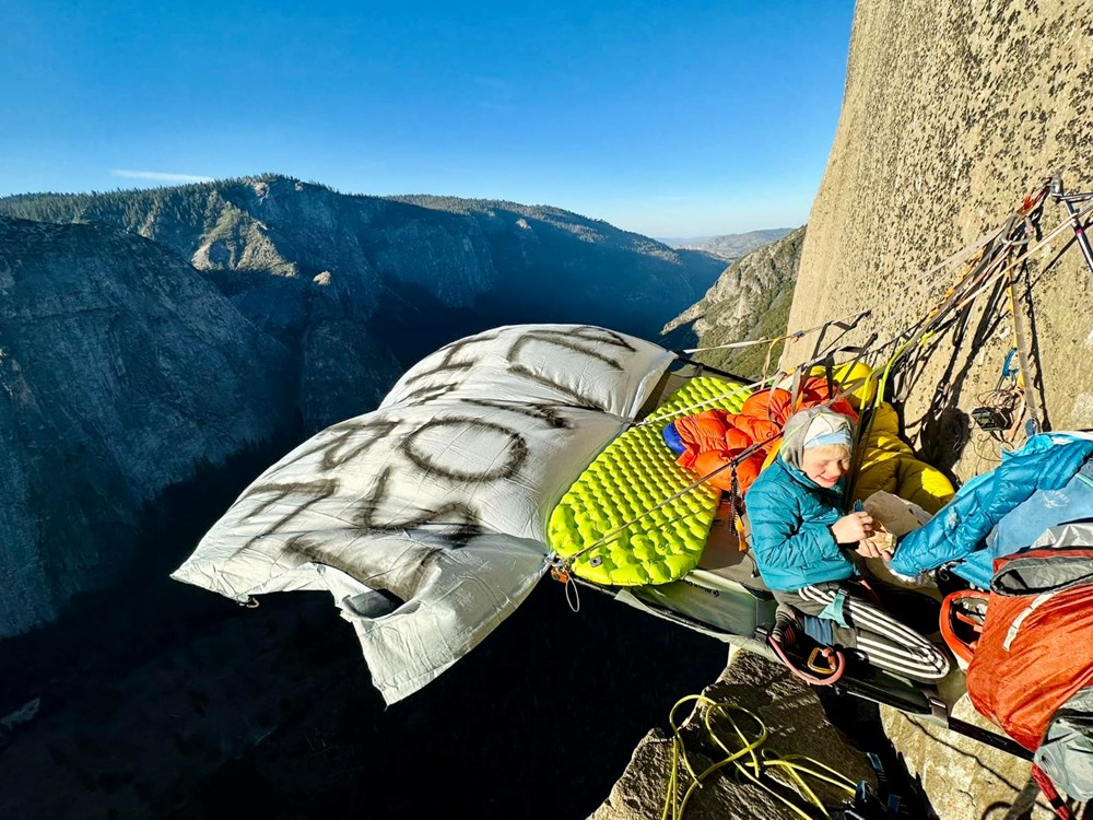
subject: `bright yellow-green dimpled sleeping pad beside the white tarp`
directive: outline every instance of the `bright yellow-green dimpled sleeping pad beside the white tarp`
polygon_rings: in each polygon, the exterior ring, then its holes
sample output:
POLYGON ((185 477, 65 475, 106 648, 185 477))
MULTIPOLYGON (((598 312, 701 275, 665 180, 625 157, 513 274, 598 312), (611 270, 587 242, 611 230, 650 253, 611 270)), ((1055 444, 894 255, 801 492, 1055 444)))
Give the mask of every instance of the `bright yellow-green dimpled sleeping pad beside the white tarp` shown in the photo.
POLYGON ((694 481, 693 473, 675 464, 661 431, 680 418, 670 415, 673 410, 720 397, 689 413, 714 408, 736 413, 749 395, 744 385, 718 378, 692 378, 683 385, 650 414, 665 417, 662 421, 615 438, 562 496, 546 525, 551 548, 569 557, 622 528, 580 554, 573 571, 611 586, 667 584, 691 572, 702 557, 720 491, 700 484, 648 513, 694 481))

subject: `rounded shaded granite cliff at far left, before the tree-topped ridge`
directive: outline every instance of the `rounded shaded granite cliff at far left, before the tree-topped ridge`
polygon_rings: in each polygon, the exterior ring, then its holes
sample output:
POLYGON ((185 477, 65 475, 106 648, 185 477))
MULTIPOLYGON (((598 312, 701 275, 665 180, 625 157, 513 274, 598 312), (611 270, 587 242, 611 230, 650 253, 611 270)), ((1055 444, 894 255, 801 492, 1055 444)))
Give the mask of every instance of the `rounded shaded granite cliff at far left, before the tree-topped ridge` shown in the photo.
POLYGON ((143 502, 284 423, 287 361, 156 244, 0 216, 0 636, 115 579, 143 502))

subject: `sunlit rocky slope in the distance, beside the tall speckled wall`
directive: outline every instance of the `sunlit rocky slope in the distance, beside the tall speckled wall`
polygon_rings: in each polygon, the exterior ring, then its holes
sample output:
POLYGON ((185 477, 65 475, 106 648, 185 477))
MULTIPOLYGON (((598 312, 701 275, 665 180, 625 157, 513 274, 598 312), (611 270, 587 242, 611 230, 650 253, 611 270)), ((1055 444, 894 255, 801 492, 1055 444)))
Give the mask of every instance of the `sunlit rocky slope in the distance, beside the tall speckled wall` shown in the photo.
MULTIPOLYGON (((712 348, 785 333, 803 242, 802 226, 730 265, 700 302, 665 326, 669 347, 712 348)), ((781 353, 780 342, 769 351, 768 347, 710 350, 695 358, 730 373, 759 377, 767 353, 775 367, 781 353)))

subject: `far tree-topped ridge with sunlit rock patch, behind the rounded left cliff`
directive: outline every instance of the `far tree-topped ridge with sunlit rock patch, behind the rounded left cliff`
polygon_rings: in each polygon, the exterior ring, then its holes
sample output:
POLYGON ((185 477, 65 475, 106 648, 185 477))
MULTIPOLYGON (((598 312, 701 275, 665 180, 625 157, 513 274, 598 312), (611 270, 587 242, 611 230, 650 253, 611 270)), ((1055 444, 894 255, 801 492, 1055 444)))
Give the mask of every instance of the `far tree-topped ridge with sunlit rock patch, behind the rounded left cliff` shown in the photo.
POLYGON ((343 195, 278 175, 24 195, 0 199, 4 212, 101 221, 164 244, 289 343, 285 333, 305 332, 307 306, 321 292, 328 314, 366 325, 403 365, 491 323, 577 321, 656 338, 665 317, 698 298, 722 267, 560 209, 343 195), (270 288, 279 289, 275 304, 263 295, 270 288))

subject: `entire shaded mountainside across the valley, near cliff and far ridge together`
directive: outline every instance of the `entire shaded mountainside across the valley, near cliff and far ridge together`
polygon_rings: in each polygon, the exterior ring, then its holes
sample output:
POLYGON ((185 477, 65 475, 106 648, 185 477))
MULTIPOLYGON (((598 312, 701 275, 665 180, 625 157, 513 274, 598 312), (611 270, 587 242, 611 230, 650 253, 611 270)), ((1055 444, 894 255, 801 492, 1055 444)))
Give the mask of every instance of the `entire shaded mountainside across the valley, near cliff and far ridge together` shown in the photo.
POLYGON ((275 175, 0 200, 0 637, 116 581, 197 466, 366 412, 487 327, 655 339, 722 267, 559 209, 275 175))

